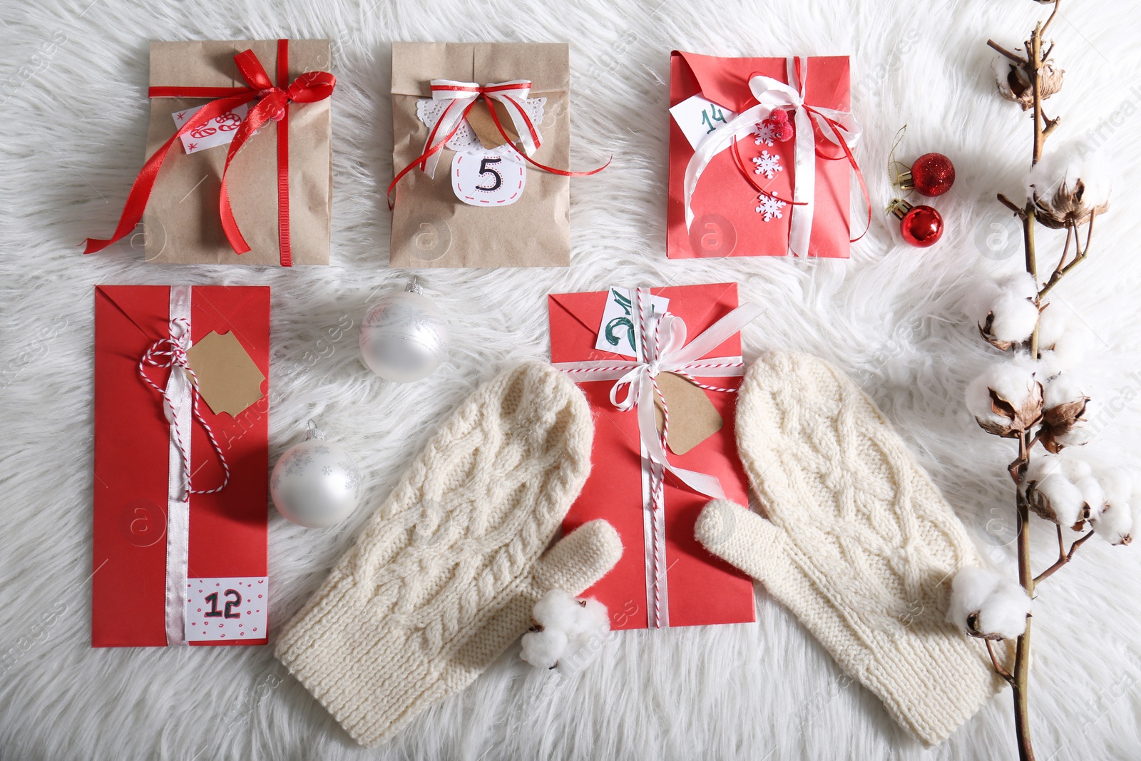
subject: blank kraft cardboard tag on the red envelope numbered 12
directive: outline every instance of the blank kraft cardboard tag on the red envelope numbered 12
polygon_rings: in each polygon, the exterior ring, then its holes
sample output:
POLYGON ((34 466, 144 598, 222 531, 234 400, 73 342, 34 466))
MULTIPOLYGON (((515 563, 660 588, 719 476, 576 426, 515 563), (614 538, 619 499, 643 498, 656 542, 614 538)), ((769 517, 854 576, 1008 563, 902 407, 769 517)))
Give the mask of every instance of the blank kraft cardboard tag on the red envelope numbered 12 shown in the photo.
MULTIPOLYGON (((213 413, 235 416, 261 398, 266 379, 233 333, 211 332, 186 351, 199 394, 213 413)), ((671 415, 672 428, 672 415, 671 415)))

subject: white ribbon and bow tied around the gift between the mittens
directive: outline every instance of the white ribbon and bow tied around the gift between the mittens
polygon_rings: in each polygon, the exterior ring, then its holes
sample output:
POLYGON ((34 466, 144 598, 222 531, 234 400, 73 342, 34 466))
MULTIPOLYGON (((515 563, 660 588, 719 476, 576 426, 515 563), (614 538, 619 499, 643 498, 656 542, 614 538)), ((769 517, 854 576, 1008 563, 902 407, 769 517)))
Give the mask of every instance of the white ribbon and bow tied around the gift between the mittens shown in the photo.
MULTIPOLYGON (((658 434, 654 412, 658 373, 672 372, 710 390, 720 389, 694 380, 699 378, 731 378, 744 374, 741 356, 701 359, 726 340, 741 332, 747 323, 763 311, 755 303, 743 303, 717 321, 709 329, 686 343, 686 323, 669 313, 657 315, 647 305, 649 289, 637 290, 637 334, 640 337, 638 358, 584 362, 557 362, 555 367, 583 381, 616 381, 610 389, 610 404, 622 412, 636 410, 640 439, 642 473, 642 527, 646 539, 646 596, 650 626, 669 625, 669 605, 665 593, 665 521, 664 476, 669 471, 698 494, 725 499, 721 483, 714 476, 686 470, 670 463, 666 456, 666 435, 658 434), (582 378, 578 378, 578 377, 582 378), (625 396, 620 398, 622 389, 625 396)), ((666 431, 669 429, 666 428, 666 431)))

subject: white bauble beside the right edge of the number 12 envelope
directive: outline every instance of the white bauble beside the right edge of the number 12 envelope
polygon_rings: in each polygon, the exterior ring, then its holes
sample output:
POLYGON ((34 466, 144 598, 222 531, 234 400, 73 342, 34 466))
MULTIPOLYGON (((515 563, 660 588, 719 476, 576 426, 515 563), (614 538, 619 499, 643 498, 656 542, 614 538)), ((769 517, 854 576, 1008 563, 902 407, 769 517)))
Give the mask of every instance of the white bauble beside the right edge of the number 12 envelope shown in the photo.
POLYGON ((348 453, 321 438, 286 450, 269 477, 277 511, 307 528, 327 528, 345 520, 361 502, 361 472, 348 453))

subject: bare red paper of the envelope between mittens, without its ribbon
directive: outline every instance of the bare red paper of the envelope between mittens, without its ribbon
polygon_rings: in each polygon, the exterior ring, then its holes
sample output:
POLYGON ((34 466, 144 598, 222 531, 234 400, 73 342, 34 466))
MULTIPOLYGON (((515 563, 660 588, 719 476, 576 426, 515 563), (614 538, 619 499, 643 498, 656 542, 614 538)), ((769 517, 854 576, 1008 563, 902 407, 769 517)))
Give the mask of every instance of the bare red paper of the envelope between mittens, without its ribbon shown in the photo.
MULTIPOLYGON (((736 283, 661 288, 652 293, 670 299, 670 313, 685 321, 690 339, 737 307, 736 283)), ((551 362, 629 359, 594 348, 606 299, 606 291, 548 297, 551 362)), ((735 334, 705 357, 739 354, 741 335, 735 334)), ((718 378, 706 382, 736 388, 741 379, 718 378)), ((605 518, 617 529, 622 559, 583 594, 606 605, 613 629, 646 629, 649 604, 638 420, 636 411, 620 412, 610 404, 613 386, 614 381, 580 382, 594 418, 594 445, 590 478, 563 521, 563 531, 569 533, 594 518, 605 518)), ((734 434, 736 394, 706 394, 725 426, 683 455, 671 452, 670 462, 715 476, 727 499, 747 504, 747 485, 734 434)), ((665 475, 666 605, 671 626, 755 620, 752 581, 706 552, 694 537, 697 516, 709 501, 710 497, 693 492, 671 473, 665 475)))

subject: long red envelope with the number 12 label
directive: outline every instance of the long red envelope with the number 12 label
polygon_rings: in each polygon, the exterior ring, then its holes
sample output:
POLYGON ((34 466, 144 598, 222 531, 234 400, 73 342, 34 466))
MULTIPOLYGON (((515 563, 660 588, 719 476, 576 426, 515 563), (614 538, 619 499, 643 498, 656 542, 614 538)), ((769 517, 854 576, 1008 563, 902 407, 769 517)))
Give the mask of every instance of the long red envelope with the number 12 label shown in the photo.
MULTIPOLYGON (((170 292, 160 285, 95 291, 92 647, 168 645, 170 423, 162 396, 139 378, 138 365, 155 341, 170 334, 170 292)), ((266 377, 261 391, 268 394, 268 288, 195 285, 189 319, 193 342, 210 332, 233 332, 266 377)), ((169 370, 147 370, 160 387, 165 384, 169 370)), ((189 499, 187 583, 193 589, 187 593, 193 606, 186 606, 187 622, 193 616, 211 630, 188 643, 265 645, 268 396, 236 416, 215 414, 204 400, 199 411, 230 477, 217 494, 189 499), (195 583, 204 580, 218 588, 195 583)), ((222 478, 218 455, 197 421, 191 429, 192 487, 212 488, 222 478)))

